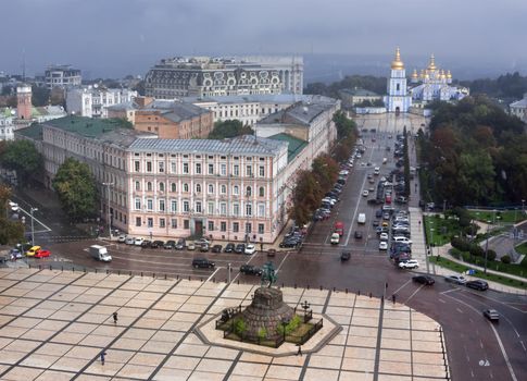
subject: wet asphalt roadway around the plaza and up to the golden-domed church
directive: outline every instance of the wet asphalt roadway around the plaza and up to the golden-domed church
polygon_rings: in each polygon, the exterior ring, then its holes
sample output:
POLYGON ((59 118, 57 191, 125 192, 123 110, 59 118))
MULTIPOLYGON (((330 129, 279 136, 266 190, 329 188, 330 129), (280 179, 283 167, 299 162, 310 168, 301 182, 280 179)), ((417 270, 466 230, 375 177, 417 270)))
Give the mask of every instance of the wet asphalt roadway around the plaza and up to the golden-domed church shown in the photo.
MULTIPOLYGON (((379 206, 367 205, 366 200, 375 197, 378 179, 394 168, 392 151, 396 134, 402 133, 404 125, 410 133, 415 134, 425 121, 413 115, 368 115, 356 121, 360 131, 367 130, 361 133, 366 150, 361 159, 355 160, 330 219, 314 224, 300 253, 277 253, 272 259, 278 269, 278 284, 350 290, 365 295, 372 293, 372 297, 386 297, 390 300, 396 295, 398 303, 415 308, 442 325, 453 380, 527 379, 526 296, 492 290, 472 291, 446 283, 441 276, 435 276, 434 286, 417 285, 412 282, 415 270, 397 269, 386 251, 378 249, 379 241, 372 222, 379 206), (376 130, 375 133, 372 128, 376 130), (387 151, 387 146, 391 151, 387 151), (384 158, 388 159, 386 164, 382 164, 384 158), (380 175, 374 176, 375 183, 371 184, 367 175, 373 173, 375 167, 380 167, 380 175), (373 195, 362 196, 364 189, 372 188, 373 195), (356 222, 359 213, 366 214, 366 223, 363 225, 356 222), (331 246, 329 236, 336 221, 344 223, 344 234, 339 245, 331 246), (355 231, 363 233, 361 239, 354 238, 355 231), (351 251, 349 261, 341 262, 342 250, 351 251), (481 311, 486 308, 499 310, 500 323, 492 324, 484 318, 481 311)), ((412 144, 411 152, 415 156, 412 144)), ((411 161, 415 162, 415 157, 411 161)), ((414 188, 415 183, 412 182, 410 206, 418 202, 414 188)), ((50 237, 65 233, 54 230, 53 219, 42 213, 37 214, 37 218, 46 226, 51 226, 51 231, 45 232, 46 229, 38 224, 40 228, 37 232, 40 233, 36 235, 36 243, 50 248, 53 255, 47 259, 28 259, 32 267, 75 266, 77 269, 98 271, 133 271, 136 274, 142 272, 145 276, 152 276, 154 273, 156 276, 166 274, 170 278, 225 281, 228 279, 227 269, 230 263, 231 280, 256 283, 258 278, 241 275, 239 267, 243 263, 262 266, 269 259, 262 253, 253 256, 212 253, 202 255, 199 251, 141 249, 115 242, 103 242, 113 258, 111 263, 103 265, 92 260, 87 251, 90 245, 101 244, 101 241, 59 242, 60 239, 50 237), (215 270, 192 269, 191 260, 196 257, 206 257, 215 261, 215 270)), ((421 217, 412 214, 410 218, 421 217)), ((414 233, 413 231, 412 239, 415 239, 414 233)), ((417 271, 426 272, 426 253, 415 253, 415 257, 421 265, 417 271)))

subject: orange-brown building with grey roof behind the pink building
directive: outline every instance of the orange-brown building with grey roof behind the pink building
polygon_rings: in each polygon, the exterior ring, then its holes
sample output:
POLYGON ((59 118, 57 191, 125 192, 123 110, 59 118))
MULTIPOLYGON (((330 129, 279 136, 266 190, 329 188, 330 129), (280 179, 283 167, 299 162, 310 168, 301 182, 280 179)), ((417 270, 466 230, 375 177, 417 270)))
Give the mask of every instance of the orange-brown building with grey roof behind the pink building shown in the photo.
POLYGON ((214 121, 212 112, 177 100, 136 97, 126 103, 108 108, 109 118, 126 119, 134 128, 151 132, 163 139, 208 137, 214 121))

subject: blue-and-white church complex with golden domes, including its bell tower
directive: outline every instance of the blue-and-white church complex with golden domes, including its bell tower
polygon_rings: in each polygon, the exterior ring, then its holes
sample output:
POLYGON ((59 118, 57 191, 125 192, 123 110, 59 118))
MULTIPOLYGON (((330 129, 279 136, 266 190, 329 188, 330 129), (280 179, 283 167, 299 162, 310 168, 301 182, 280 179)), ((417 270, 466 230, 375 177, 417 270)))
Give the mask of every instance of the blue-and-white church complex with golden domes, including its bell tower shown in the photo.
POLYGON ((411 107, 425 108, 434 100, 461 100, 469 94, 468 88, 452 86, 452 73, 436 65, 434 54, 426 69, 411 75, 411 86, 406 85, 404 63, 401 51, 396 49, 396 58, 391 62, 391 75, 388 78, 388 95, 385 105, 388 112, 409 112, 411 107))

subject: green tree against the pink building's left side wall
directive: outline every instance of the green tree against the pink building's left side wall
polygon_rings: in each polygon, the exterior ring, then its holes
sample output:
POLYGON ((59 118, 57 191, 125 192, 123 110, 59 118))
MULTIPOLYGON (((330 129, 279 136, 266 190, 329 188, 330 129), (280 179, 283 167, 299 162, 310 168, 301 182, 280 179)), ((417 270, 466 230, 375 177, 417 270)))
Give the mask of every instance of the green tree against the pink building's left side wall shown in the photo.
POLYGON ((67 158, 53 179, 53 188, 72 221, 96 214, 97 187, 88 164, 67 158))

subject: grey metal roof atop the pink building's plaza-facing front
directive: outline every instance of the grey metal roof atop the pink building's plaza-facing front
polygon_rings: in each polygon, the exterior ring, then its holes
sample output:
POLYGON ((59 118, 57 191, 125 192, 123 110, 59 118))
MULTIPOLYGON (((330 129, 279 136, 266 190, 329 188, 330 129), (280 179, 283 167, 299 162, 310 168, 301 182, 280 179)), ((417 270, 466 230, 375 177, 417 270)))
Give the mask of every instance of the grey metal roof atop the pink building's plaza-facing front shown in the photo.
POLYGON ((135 152, 166 153, 226 153, 275 156, 287 148, 287 143, 272 140, 253 135, 238 136, 231 139, 142 139, 135 140, 129 150, 135 152))

